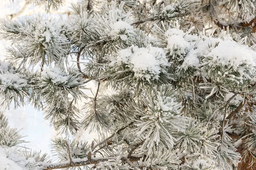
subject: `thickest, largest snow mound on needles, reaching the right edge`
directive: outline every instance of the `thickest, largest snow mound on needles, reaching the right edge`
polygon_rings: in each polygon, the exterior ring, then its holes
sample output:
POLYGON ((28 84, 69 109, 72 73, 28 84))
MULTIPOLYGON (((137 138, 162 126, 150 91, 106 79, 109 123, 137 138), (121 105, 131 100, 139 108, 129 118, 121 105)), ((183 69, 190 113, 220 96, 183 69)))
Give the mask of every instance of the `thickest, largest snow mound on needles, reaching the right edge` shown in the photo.
POLYGON ((225 38, 205 38, 197 45, 205 71, 221 68, 221 77, 228 77, 237 83, 243 79, 252 80, 256 74, 256 52, 247 45, 225 38))

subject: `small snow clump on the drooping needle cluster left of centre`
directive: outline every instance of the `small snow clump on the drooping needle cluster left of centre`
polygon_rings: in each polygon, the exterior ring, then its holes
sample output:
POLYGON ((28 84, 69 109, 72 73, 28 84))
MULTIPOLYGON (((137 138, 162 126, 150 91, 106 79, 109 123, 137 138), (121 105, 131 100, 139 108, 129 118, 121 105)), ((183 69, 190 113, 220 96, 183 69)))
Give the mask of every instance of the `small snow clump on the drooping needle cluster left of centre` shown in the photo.
POLYGON ((41 79, 54 84, 66 83, 68 76, 60 68, 49 68, 41 72, 41 79))

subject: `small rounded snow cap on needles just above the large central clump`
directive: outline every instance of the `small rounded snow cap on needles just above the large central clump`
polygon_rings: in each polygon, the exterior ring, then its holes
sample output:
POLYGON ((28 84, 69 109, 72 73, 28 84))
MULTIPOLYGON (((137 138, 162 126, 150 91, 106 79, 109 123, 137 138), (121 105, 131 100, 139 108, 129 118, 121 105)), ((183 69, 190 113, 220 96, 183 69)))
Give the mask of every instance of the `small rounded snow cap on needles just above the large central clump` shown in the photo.
POLYGON ((119 20, 110 26, 111 31, 109 35, 112 37, 120 37, 123 41, 127 40, 128 36, 134 33, 133 26, 122 20, 119 20))

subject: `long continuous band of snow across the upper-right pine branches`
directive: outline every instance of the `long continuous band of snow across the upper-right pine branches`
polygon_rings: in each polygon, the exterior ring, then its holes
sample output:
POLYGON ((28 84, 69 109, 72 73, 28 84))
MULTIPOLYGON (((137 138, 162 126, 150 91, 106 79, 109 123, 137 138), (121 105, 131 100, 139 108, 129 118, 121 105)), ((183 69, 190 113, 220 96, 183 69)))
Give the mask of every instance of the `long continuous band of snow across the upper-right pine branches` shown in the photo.
POLYGON ((219 38, 213 38, 204 34, 190 35, 189 31, 184 33, 182 30, 172 28, 165 33, 165 45, 168 57, 183 61, 181 68, 184 70, 188 67, 201 66, 224 67, 223 75, 222 72, 219 74, 238 83, 244 78, 251 80, 255 78, 256 51, 234 41, 229 34, 221 34, 219 38), (202 61, 199 61, 198 57, 201 57, 202 61))

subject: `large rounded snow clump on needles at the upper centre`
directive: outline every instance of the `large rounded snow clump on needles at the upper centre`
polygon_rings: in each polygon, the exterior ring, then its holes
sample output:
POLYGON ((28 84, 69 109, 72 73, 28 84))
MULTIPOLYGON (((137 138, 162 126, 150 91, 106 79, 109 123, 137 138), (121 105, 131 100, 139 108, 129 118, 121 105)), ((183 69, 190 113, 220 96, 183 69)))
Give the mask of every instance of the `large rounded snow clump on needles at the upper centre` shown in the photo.
POLYGON ((145 79, 148 82, 158 79, 161 73, 166 73, 168 60, 162 48, 148 45, 145 48, 131 46, 119 51, 118 56, 113 59, 110 66, 125 65, 134 72, 137 79, 145 79))

